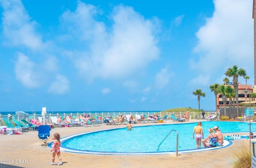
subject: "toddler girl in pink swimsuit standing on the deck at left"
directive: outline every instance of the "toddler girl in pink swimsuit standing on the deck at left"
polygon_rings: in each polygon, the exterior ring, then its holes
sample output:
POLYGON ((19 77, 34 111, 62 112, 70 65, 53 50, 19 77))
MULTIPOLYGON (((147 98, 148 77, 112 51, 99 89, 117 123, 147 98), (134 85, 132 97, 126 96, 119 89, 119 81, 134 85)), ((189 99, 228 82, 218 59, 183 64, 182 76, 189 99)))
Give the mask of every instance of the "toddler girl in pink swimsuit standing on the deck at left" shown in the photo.
POLYGON ((60 157, 60 134, 59 133, 55 133, 53 135, 53 142, 52 142, 52 148, 51 148, 51 152, 52 152, 52 165, 54 165, 54 160, 55 160, 55 156, 57 154, 58 158, 59 158, 59 163, 58 165, 62 165, 61 162, 61 157, 60 157))

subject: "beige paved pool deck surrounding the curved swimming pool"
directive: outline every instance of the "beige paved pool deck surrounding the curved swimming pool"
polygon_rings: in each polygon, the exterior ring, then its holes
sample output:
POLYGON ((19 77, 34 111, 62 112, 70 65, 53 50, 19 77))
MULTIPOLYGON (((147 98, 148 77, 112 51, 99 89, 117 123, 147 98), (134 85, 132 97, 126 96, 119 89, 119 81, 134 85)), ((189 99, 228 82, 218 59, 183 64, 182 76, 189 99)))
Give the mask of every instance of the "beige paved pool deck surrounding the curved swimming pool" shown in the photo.
MULTIPOLYGON (((190 120, 198 122, 199 120, 190 120)), ((166 124, 175 123, 170 120, 166 124)), ((182 123, 182 122, 181 122, 182 123)), ((144 123, 132 125, 158 125, 162 123, 144 123)), ((164 123, 165 124, 165 123, 164 123)), ((60 133, 61 137, 95 131, 100 129, 109 129, 116 127, 126 127, 126 125, 102 125, 100 127, 56 127, 50 131, 51 136, 54 133, 60 133)), ((192 135, 192 133, 191 133, 192 135)), ((102 137, 104 138, 104 137, 102 137)), ((48 143, 52 140, 48 139, 48 143)), ((194 141, 194 140, 192 140, 194 141)), ((84 142, 86 143, 86 142, 84 142)), ((249 147, 249 141, 233 141, 233 145, 218 150, 209 150, 204 152, 182 153, 170 155, 142 155, 142 156, 108 156, 108 155, 89 155, 61 152, 62 167, 66 168, 232 168, 234 163, 234 152, 240 150, 241 145, 249 147)), ((24 132, 21 135, 0 135, 0 167, 1 168, 51 168, 56 165, 50 165, 52 162, 52 152, 50 148, 42 146, 42 141, 38 138, 37 131, 24 132), (2 162, 13 162, 11 164, 2 164, 2 162), (20 162, 20 163, 19 163, 20 162)), ((125 144, 120 144, 125 145, 125 144)), ((56 156, 55 163, 58 163, 56 156)))

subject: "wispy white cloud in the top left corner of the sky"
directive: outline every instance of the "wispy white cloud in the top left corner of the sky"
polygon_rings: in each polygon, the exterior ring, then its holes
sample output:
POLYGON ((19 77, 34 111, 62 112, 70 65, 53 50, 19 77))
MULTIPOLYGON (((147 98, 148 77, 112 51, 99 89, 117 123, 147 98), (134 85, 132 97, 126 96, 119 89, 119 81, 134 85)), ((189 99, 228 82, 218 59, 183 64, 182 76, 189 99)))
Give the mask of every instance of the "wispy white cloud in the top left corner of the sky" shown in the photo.
POLYGON ((31 21, 20 0, 0 1, 3 8, 2 24, 6 41, 12 46, 25 46, 29 49, 40 49, 43 46, 41 37, 36 33, 36 22, 31 21))

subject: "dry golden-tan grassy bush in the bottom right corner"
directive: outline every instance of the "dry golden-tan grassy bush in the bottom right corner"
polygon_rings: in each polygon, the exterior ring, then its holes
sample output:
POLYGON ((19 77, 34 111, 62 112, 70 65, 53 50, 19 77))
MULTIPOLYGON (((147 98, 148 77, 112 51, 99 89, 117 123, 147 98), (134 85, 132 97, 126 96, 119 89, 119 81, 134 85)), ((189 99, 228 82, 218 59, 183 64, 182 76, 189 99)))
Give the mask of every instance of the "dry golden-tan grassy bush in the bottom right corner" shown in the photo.
POLYGON ((248 147, 244 144, 239 147, 234 153, 234 158, 236 159, 234 162, 234 168, 250 168, 252 164, 251 153, 248 147))

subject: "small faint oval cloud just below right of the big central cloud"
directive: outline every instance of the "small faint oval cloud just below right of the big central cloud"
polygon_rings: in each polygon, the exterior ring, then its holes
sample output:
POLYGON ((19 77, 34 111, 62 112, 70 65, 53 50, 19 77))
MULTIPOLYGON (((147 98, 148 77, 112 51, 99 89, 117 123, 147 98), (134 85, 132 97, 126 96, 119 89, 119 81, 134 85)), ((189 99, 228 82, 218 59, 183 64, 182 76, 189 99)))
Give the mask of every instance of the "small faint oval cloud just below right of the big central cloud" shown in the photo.
POLYGON ((155 76, 155 85, 158 89, 163 89, 169 82, 172 72, 168 72, 167 68, 162 68, 155 76))

